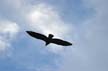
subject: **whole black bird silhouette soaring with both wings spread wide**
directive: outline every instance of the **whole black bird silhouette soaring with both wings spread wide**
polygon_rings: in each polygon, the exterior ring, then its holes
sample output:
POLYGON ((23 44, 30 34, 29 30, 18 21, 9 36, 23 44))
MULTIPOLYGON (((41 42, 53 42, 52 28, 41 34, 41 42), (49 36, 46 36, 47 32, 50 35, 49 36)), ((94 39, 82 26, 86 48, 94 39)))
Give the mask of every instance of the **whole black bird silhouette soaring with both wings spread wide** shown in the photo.
POLYGON ((30 36, 34 37, 34 38, 37 38, 37 39, 45 41, 46 42, 46 46, 48 44, 50 44, 50 43, 54 43, 54 44, 58 44, 58 45, 62 45, 62 46, 70 46, 70 45, 72 45, 72 43, 70 43, 70 42, 67 42, 67 41, 64 41, 64 40, 61 40, 61 39, 57 39, 57 38, 53 38, 54 35, 52 35, 52 34, 49 34, 49 36, 46 37, 43 34, 36 33, 36 32, 33 32, 33 31, 26 31, 26 32, 30 36))

